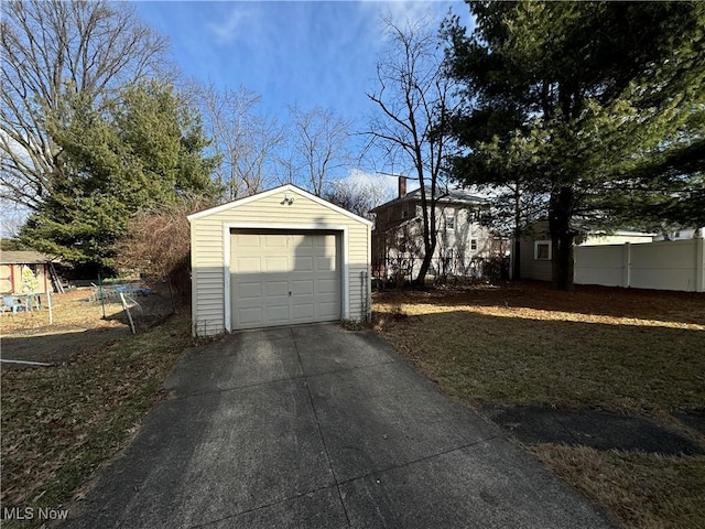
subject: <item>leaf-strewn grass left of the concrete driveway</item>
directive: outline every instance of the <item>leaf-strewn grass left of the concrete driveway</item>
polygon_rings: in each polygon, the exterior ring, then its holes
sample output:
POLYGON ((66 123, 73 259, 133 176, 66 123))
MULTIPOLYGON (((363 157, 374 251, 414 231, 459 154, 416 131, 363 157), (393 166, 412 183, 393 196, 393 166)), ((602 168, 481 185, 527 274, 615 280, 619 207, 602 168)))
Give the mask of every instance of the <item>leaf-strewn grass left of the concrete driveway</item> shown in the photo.
POLYGON ((162 381, 189 345, 188 315, 181 314, 59 366, 4 370, 2 507, 56 508, 70 500, 165 397, 162 381))

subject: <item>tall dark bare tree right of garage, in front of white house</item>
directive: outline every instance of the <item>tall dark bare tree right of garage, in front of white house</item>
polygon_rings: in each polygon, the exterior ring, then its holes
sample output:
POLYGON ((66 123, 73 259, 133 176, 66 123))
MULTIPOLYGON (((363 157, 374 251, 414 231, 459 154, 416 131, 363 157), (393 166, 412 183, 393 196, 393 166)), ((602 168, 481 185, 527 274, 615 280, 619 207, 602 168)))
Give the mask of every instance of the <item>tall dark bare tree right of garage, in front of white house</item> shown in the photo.
POLYGON ((424 257, 415 281, 423 283, 437 244, 436 204, 447 190, 443 180, 453 147, 453 85, 443 75, 438 37, 425 22, 384 22, 389 48, 377 65, 378 88, 368 94, 378 115, 367 133, 390 161, 401 155, 421 186, 424 257))

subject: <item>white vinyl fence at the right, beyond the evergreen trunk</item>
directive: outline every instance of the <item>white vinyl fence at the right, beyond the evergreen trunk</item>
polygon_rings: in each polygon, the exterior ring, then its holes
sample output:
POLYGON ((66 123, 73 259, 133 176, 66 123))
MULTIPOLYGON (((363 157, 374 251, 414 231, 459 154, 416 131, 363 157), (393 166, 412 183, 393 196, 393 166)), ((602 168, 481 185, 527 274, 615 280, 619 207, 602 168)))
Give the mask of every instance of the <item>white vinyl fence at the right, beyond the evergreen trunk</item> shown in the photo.
POLYGON ((705 292, 702 237, 575 248, 575 282, 634 289, 705 292))

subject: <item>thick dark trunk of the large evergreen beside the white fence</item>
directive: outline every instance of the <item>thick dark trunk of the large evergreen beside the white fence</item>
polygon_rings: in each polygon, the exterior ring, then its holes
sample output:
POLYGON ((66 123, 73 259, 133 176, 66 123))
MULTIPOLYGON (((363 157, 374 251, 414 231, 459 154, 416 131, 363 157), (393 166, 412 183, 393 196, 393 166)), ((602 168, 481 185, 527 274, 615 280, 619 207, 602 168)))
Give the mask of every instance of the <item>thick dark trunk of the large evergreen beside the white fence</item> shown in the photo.
POLYGON ((551 196, 549 229, 553 255, 551 258, 551 281, 556 290, 572 292, 573 283, 573 242, 575 234, 571 230, 571 212, 574 192, 572 187, 561 187, 551 196))

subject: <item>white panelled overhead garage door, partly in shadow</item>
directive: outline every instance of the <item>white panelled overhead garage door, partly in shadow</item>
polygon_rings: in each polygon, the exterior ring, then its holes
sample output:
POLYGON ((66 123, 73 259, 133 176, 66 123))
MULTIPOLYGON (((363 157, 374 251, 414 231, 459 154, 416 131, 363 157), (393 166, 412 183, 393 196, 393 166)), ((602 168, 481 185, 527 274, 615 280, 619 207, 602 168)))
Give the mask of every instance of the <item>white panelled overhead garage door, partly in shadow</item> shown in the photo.
POLYGON ((235 231, 232 328, 340 320, 337 248, 329 233, 235 231))

